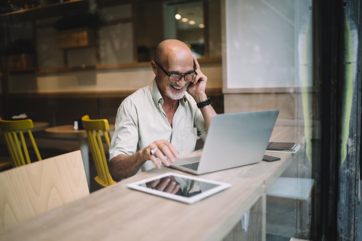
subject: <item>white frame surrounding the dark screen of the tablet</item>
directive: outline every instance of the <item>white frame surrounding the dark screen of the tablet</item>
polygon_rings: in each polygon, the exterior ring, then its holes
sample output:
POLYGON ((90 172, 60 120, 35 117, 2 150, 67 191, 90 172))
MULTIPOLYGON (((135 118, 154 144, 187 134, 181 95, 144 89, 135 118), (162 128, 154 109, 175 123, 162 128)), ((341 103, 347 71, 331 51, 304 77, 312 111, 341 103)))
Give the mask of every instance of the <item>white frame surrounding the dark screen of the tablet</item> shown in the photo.
POLYGON ((192 203, 200 201, 201 199, 210 197, 211 195, 214 195, 215 193, 218 193, 218 192, 220 192, 220 191, 222 191, 224 189, 230 188, 230 186, 231 186, 231 184, 226 183, 226 182, 213 181, 213 180, 209 180, 209 179, 193 177, 193 176, 187 176, 187 175, 182 175, 182 174, 173 173, 173 172, 167 172, 167 173, 164 173, 164 174, 161 174, 161 175, 157 175, 157 176, 154 176, 154 177, 146 178, 146 179, 143 179, 143 180, 140 180, 140 181, 136 181, 136 182, 132 182, 132 183, 127 184, 127 187, 131 188, 131 189, 143 191, 143 192, 150 193, 150 194, 153 194, 153 195, 157 195, 157 196, 160 196, 160 197, 169 198, 169 199, 173 199, 173 200, 176 200, 176 201, 185 202, 185 203, 189 203, 189 204, 192 204, 192 203), (215 185, 218 185, 218 186, 216 186, 214 188, 211 188, 211 189, 209 189, 207 191, 203 191, 202 193, 196 194, 196 195, 194 195, 192 197, 183 197, 183 196, 180 196, 180 195, 166 193, 164 191, 159 191, 159 190, 156 190, 156 189, 151 189, 151 188, 146 188, 144 186, 140 186, 142 184, 146 184, 147 182, 154 181, 156 179, 171 176, 171 175, 176 176, 176 177, 181 177, 181 178, 187 178, 187 179, 191 179, 191 180, 195 180, 195 181, 206 182, 206 183, 209 183, 209 184, 215 184, 215 185))

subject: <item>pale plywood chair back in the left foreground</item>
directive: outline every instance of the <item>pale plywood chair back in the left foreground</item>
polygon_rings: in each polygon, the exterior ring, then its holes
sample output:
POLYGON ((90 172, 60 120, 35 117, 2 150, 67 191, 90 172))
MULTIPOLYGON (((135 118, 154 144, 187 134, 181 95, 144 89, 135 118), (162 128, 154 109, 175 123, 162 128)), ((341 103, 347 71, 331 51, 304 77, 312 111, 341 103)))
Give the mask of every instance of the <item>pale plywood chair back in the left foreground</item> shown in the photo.
POLYGON ((0 231, 89 195, 80 150, 0 172, 0 183, 0 231))

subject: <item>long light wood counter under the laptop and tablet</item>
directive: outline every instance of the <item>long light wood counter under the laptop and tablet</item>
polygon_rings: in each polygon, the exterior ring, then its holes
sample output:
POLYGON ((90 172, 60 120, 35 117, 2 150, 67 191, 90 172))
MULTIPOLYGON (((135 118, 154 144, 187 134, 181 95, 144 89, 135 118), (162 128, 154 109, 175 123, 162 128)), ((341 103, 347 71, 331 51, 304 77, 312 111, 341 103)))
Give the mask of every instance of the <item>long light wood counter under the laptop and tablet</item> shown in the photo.
MULTIPOLYGON (((298 132, 275 126, 271 141, 302 143, 298 132)), ((229 240, 243 235, 243 240, 265 240, 265 191, 297 154, 273 155, 281 160, 200 175, 232 186, 192 205, 126 187, 165 172, 188 175, 154 168, 8 229, 0 233, 0 240, 229 240), (234 227, 250 208, 256 210, 256 219, 249 220, 248 232, 236 237, 234 227)))

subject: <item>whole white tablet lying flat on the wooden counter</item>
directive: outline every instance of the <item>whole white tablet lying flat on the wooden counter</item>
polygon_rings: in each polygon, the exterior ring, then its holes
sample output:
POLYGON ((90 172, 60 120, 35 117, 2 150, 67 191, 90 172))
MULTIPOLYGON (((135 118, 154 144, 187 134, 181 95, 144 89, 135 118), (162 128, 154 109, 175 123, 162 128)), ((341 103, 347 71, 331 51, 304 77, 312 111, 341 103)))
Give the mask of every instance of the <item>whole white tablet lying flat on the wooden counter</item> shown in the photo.
POLYGON ((230 186, 230 183, 172 172, 127 184, 127 187, 135 190, 185 203, 195 203, 230 186))

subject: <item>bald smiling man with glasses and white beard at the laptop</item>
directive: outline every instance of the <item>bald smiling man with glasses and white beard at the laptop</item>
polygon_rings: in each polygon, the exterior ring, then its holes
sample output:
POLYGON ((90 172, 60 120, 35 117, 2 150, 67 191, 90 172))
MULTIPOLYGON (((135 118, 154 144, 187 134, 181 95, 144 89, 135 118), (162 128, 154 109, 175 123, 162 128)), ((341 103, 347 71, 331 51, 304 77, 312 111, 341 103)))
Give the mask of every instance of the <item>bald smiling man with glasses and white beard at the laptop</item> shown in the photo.
POLYGON ((118 108, 109 149, 115 181, 160 168, 160 161, 169 166, 194 151, 197 135, 205 140, 216 115, 205 94, 207 77, 185 43, 159 43, 151 65, 156 77, 150 86, 128 96, 118 108))

